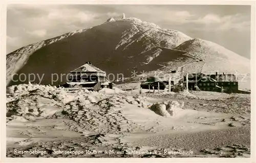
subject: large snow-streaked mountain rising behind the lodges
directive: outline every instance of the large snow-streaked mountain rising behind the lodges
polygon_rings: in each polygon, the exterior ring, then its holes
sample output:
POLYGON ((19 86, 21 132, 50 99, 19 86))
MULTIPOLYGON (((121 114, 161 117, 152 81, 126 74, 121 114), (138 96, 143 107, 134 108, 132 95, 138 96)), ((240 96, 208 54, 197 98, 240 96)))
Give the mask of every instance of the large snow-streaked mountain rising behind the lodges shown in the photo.
POLYGON ((216 43, 161 29, 133 17, 110 18, 102 25, 40 41, 8 54, 7 83, 22 83, 11 81, 14 73, 34 73, 45 74, 42 84, 51 84, 52 74, 68 74, 87 61, 108 74, 123 73, 125 77, 130 77, 133 71, 152 75, 153 71, 166 74, 173 70, 180 75, 219 72, 240 74, 242 78, 247 74, 247 82, 240 86, 250 87, 249 59, 216 43))

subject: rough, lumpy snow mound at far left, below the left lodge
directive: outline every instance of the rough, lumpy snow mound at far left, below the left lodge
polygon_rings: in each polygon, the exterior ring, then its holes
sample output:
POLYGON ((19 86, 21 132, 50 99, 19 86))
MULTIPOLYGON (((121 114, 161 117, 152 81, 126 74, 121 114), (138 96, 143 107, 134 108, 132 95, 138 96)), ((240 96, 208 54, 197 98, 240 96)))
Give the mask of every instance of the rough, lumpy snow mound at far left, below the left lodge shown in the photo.
POLYGON ((69 92, 50 85, 20 84, 7 88, 7 122, 42 119, 61 110, 61 106, 74 100, 85 104, 95 103, 88 90, 69 92))

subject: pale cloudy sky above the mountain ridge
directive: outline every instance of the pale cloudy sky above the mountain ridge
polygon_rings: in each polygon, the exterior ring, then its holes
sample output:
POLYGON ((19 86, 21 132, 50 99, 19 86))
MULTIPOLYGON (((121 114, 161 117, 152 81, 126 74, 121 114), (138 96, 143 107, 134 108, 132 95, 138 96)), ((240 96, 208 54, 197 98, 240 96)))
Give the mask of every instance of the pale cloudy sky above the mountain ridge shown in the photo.
POLYGON ((8 5, 7 53, 125 13, 250 58, 250 10, 245 5, 8 5))

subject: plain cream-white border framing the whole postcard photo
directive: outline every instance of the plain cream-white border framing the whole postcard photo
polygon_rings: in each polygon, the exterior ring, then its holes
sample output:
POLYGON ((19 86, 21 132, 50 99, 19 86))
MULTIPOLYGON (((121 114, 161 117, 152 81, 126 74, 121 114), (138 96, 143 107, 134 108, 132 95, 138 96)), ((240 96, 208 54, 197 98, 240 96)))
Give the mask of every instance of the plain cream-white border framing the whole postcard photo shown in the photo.
POLYGON ((7 158, 6 79, 1 79, 1 162, 255 162, 255 1, 1 1, 1 75, 6 74, 7 4, 251 5, 251 157, 250 158, 7 158), (253 84, 252 84, 253 83, 253 84))

